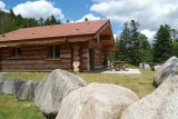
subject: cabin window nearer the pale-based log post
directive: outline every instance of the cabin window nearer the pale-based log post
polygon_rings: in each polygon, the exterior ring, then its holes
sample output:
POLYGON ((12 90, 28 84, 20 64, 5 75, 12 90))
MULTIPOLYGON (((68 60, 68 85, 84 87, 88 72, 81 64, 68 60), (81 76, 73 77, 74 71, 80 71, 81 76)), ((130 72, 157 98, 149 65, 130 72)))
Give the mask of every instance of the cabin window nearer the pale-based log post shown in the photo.
POLYGON ((60 57, 60 46, 50 46, 49 58, 59 58, 59 57, 60 57))

